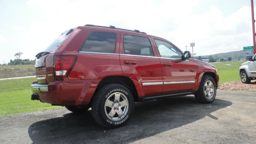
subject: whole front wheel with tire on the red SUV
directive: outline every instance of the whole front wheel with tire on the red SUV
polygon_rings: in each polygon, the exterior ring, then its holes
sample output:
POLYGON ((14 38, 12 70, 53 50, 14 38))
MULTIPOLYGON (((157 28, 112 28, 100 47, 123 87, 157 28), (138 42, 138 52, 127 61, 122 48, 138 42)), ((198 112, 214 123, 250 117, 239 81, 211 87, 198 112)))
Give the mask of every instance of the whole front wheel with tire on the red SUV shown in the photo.
POLYGON ((211 76, 204 75, 199 89, 195 94, 195 98, 198 102, 203 104, 212 103, 216 97, 216 83, 211 76))

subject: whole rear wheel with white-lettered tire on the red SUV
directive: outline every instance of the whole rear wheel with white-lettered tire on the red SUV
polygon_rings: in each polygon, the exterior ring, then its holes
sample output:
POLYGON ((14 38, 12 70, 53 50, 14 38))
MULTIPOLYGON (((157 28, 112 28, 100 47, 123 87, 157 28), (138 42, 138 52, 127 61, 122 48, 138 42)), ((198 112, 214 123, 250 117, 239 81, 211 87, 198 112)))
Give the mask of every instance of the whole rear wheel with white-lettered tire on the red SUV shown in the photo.
POLYGON ((106 128, 124 125, 133 112, 134 100, 128 88, 120 84, 108 84, 100 88, 92 101, 92 116, 106 128))

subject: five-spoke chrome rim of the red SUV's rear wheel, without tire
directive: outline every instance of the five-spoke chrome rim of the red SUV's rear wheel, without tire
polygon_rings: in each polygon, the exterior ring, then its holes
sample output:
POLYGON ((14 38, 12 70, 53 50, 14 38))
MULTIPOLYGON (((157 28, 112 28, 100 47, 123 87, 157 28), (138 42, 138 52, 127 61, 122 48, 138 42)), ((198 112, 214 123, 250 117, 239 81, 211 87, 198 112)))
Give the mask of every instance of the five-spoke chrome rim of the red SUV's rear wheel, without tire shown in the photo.
POLYGON ((121 120, 128 112, 128 99, 121 92, 114 92, 107 98, 104 108, 105 114, 110 120, 121 120))

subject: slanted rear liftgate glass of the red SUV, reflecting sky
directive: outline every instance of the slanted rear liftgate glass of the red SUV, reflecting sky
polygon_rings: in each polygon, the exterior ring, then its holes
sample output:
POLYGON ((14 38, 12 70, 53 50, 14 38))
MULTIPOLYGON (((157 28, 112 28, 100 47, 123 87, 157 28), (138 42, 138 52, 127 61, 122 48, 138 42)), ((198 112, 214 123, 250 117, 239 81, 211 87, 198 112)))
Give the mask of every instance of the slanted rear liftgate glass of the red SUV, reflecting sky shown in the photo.
POLYGON ((52 42, 52 44, 50 44, 50 46, 48 46, 44 50, 44 52, 56 51, 59 48, 59 46, 70 36, 72 32, 73 32, 73 29, 70 29, 60 34, 60 36, 56 38, 54 42, 52 42))

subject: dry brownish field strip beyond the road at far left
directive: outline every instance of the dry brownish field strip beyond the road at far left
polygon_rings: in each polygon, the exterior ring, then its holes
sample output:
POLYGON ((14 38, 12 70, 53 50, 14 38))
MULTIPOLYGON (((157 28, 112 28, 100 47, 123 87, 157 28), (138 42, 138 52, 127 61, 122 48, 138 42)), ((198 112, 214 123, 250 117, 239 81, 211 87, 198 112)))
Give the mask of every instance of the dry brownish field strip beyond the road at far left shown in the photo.
POLYGON ((15 78, 23 76, 35 76, 35 70, 32 69, 0 69, 0 78, 15 78))

